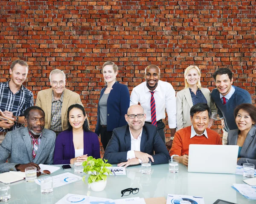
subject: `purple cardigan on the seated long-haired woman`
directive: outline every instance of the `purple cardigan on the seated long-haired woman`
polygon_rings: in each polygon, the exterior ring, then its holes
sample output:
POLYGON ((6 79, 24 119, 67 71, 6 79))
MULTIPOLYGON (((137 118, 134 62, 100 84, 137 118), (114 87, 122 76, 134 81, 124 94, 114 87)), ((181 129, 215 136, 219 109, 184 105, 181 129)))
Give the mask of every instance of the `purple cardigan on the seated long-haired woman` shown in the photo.
MULTIPOLYGON (((84 131, 84 155, 100 158, 99 139, 94 132, 84 131)), ((58 134, 55 142, 53 164, 70 164, 70 159, 75 158, 73 144, 73 131, 65 130, 58 134)))

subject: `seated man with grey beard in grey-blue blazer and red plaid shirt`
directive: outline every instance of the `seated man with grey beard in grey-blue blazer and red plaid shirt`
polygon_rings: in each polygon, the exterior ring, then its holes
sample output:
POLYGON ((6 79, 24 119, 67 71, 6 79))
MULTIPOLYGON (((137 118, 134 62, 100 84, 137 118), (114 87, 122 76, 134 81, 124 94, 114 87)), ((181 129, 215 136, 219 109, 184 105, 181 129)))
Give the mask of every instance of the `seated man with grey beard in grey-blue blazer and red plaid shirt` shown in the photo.
POLYGON ((44 111, 31 106, 24 116, 27 127, 8 132, 0 144, 0 172, 24 172, 26 167, 40 170, 38 164, 53 164, 56 136, 52 130, 44 129, 44 111))

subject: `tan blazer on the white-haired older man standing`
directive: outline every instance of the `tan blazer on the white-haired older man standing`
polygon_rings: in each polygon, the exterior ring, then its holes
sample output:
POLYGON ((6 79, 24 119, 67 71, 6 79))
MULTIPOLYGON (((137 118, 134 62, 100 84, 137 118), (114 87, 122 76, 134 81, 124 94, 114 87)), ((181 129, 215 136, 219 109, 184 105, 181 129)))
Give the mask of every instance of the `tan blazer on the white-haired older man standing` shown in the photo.
MULTIPOLYGON (((76 92, 72 92, 68 89, 64 89, 64 98, 61 109, 61 126, 62 130, 66 130, 67 126, 67 109, 72 104, 79 103, 83 106, 80 95, 76 92)), ((41 107, 45 112, 45 125, 44 127, 50 129, 51 126, 51 115, 52 115, 52 88, 45 89, 38 92, 36 98, 36 106, 41 107)))

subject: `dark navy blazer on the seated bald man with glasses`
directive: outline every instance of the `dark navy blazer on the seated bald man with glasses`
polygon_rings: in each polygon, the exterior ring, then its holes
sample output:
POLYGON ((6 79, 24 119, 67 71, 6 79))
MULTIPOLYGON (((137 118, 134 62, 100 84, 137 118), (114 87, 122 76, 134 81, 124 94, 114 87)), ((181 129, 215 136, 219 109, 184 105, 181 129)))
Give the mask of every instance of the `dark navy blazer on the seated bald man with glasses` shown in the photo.
MULTIPOLYGON (((131 150, 131 135, 129 126, 125 125, 113 130, 112 138, 103 158, 108 159, 110 164, 125 162, 129 150, 131 150)), ((140 151, 153 156, 154 162, 152 164, 167 164, 171 159, 163 140, 157 132, 157 127, 150 124, 145 123, 143 126, 140 151)))

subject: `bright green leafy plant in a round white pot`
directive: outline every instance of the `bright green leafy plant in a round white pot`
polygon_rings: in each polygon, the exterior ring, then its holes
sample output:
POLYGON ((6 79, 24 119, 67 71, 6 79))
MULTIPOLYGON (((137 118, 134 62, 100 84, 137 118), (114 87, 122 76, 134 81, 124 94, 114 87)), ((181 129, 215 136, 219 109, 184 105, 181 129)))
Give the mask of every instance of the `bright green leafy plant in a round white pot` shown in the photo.
MULTIPOLYGON (((99 192, 105 189, 107 184, 107 175, 112 174, 111 170, 107 167, 112 167, 107 163, 108 160, 95 159, 92 156, 87 158, 87 161, 83 162, 84 173, 90 174, 88 177, 88 184, 93 191, 99 192)), ((85 182, 86 175, 83 177, 85 182)))

